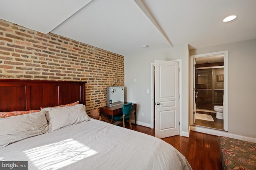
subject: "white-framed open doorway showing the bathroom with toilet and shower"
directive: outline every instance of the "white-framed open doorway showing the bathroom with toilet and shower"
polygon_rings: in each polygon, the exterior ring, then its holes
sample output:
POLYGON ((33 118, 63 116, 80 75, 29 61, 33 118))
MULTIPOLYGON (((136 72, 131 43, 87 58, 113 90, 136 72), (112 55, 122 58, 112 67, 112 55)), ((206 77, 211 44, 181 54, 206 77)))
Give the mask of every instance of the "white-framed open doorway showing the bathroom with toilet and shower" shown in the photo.
POLYGON ((227 55, 223 51, 191 56, 190 125, 228 131, 227 55))

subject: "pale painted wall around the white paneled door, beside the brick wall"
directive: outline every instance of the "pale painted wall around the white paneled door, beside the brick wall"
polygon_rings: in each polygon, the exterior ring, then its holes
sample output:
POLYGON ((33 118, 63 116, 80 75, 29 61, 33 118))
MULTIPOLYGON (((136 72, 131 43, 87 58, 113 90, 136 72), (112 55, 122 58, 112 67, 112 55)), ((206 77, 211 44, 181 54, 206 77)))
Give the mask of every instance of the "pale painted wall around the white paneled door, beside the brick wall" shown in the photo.
POLYGON ((182 132, 188 133, 188 45, 124 57, 125 101, 137 103, 137 122, 150 127, 150 64, 154 60, 182 59, 182 132), (134 82, 136 79, 137 82, 134 82), (142 116, 144 112, 144 116, 142 116))

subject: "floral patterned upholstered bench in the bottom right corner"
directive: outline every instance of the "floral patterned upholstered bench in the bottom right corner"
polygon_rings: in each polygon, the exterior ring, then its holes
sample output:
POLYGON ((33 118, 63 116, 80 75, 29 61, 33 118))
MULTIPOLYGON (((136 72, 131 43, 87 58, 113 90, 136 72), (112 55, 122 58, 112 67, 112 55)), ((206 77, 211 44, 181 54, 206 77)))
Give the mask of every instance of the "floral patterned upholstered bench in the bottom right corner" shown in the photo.
POLYGON ((223 170, 256 170, 256 143, 219 137, 223 170))

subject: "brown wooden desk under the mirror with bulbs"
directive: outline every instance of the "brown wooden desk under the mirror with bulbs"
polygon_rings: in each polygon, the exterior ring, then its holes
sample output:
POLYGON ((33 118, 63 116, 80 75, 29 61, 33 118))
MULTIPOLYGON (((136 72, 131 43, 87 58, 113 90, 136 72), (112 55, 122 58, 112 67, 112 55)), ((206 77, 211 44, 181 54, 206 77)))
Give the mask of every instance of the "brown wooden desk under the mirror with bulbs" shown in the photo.
MULTIPOLYGON (((128 102, 124 102, 124 104, 128 104, 128 102)), ((132 103, 132 109, 135 109, 135 112, 134 112, 135 124, 136 124, 136 107, 137 107, 137 104, 132 103)), ((112 124, 113 124, 114 123, 114 119, 113 119, 114 115, 123 113, 122 108, 123 108, 123 104, 120 104, 117 106, 111 106, 111 107, 108 107, 108 106, 100 107, 100 115, 101 115, 101 113, 111 115, 112 116, 112 124)))

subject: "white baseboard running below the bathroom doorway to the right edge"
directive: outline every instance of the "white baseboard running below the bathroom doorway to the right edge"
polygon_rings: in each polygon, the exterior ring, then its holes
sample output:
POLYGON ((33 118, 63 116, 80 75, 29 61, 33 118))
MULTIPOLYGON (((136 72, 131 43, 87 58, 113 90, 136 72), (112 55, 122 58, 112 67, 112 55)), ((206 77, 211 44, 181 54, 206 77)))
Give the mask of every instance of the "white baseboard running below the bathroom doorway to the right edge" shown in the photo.
POLYGON ((202 132, 202 133, 207 133, 207 134, 216 135, 216 136, 230 137, 230 138, 234 138, 234 139, 239 139, 239 140, 243 140, 243 141, 256 143, 256 138, 246 137, 246 136, 242 136, 242 135, 236 135, 233 133, 228 133, 226 131, 218 131, 215 129, 208 129, 208 128, 198 127, 198 126, 193 126, 193 125, 190 126, 190 129, 191 129, 191 131, 202 132))

